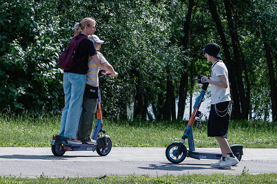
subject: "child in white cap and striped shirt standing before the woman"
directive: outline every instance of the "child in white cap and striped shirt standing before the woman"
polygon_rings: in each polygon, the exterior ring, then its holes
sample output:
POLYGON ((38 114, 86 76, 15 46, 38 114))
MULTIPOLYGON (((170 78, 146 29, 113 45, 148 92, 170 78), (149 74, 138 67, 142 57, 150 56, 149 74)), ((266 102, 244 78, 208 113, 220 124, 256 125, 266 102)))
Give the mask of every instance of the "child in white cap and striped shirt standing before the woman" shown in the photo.
MULTIPOLYGON (((117 77, 118 73, 114 71, 114 68, 108 63, 105 57, 98 52, 101 44, 104 43, 96 35, 88 36, 95 44, 95 48, 99 59, 103 65, 102 69, 107 71, 112 77, 117 77)), ((83 97, 82 104, 82 114, 78 126, 77 137, 82 143, 95 144, 96 141, 90 138, 92 131, 92 123, 96 111, 97 101, 98 101, 98 70, 99 67, 96 65, 92 57, 88 58, 88 71, 86 73, 86 87, 83 97)))

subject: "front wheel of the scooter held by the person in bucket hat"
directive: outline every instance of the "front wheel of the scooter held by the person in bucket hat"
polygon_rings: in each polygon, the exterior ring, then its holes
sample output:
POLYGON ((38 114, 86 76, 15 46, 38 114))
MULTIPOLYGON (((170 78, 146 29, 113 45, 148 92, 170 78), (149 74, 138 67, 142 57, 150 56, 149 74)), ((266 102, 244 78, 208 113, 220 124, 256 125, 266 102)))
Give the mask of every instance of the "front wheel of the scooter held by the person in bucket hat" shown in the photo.
POLYGON ((179 145, 180 144, 171 143, 170 145, 167 146, 166 157, 167 157, 169 162, 171 162, 171 163, 181 163, 186 158, 186 153, 184 151, 181 151, 181 153, 178 155, 178 157, 173 155, 174 150, 177 150, 179 148, 179 145))

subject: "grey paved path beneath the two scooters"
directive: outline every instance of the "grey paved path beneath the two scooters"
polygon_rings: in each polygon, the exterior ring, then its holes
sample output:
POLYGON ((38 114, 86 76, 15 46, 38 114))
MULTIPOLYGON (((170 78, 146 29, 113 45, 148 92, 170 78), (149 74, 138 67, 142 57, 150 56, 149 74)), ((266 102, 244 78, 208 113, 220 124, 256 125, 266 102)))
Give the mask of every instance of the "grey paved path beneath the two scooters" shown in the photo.
MULTIPOLYGON (((243 157, 231 170, 210 167, 214 160, 186 158, 172 164, 165 157, 166 148, 113 147, 110 154, 99 156, 96 151, 71 151, 62 157, 52 154, 51 148, 0 148, 0 176, 100 176, 149 174, 240 174, 246 166, 249 173, 277 173, 277 149, 244 148, 243 157)), ((201 148, 217 150, 217 148, 201 148)))

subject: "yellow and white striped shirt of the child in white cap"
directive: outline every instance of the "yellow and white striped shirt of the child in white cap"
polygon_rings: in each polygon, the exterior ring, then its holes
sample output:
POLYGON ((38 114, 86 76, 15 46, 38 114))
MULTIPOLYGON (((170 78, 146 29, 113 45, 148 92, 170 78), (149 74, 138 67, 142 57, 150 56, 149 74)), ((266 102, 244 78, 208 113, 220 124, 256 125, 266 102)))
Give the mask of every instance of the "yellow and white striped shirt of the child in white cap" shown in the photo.
MULTIPOLYGON (((105 59, 105 57, 100 53, 97 52, 99 59, 101 63, 107 63, 108 61, 105 59)), ((90 86, 98 86, 98 70, 99 67, 96 65, 95 61, 93 60, 92 56, 89 56, 88 59, 88 71, 86 73, 86 83, 90 86)))

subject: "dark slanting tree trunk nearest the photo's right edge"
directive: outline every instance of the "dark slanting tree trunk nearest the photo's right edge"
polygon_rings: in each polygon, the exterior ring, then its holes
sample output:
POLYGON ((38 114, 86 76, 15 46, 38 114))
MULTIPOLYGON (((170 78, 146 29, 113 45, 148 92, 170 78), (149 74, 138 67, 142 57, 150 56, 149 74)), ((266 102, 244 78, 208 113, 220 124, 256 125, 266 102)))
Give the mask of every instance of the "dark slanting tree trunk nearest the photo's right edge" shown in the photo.
POLYGON ((270 80, 272 121, 276 121, 277 120, 277 116, 276 116, 277 86, 276 86, 275 75, 274 75, 274 71, 273 71, 272 57, 271 57, 270 49, 268 46, 268 42, 266 42, 266 41, 264 43, 264 48, 265 48, 266 57, 267 57, 267 67, 268 67, 269 80, 270 80))

